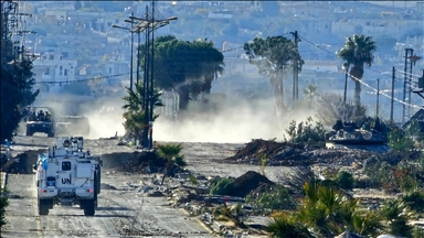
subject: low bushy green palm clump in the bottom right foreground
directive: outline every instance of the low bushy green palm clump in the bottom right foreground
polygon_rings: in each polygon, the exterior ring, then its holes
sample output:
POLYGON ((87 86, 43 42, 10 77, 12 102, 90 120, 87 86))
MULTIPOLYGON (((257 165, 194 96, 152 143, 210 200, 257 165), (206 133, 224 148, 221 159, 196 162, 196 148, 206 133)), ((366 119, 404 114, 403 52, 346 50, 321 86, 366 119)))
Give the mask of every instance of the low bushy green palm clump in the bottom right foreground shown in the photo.
POLYGON ((375 237, 384 228, 380 213, 363 212, 358 199, 341 191, 310 182, 305 183, 304 192, 296 212, 272 215, 267 226, 271 237, 333 237, 344 230, 375 237))

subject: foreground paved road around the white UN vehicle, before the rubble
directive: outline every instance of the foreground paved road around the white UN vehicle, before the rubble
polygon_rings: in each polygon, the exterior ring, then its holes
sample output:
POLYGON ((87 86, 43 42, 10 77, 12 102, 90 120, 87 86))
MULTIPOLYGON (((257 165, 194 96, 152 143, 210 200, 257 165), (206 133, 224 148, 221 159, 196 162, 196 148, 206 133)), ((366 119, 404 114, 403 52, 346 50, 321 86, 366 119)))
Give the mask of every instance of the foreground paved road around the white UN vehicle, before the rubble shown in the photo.
POLYGON ((36 190, 33 175, 9 174, 7 187, 9 224, 2 237, 211 237, 194 218, 171 208, 162 197, 145 197, 126 185, 126 177, 113 174, 104 182, 117 190, 102 191, 94 217, 85 217, 78 207, 55 206, 49 216, 36 215, 36 190))

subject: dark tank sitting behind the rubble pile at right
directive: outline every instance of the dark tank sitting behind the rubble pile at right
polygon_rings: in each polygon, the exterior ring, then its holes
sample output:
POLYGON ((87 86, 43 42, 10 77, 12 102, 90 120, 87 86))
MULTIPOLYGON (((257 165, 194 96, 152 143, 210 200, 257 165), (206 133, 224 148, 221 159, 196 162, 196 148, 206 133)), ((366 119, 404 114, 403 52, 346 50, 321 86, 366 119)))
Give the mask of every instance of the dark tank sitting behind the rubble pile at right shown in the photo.
POLYGON ((354 122, 338 120, 331 132, 326 134, 326 142, 341 145, 384 145, 388 140, 382 131, 380 120, 375 120, 374 127, 359 128, 354 122))

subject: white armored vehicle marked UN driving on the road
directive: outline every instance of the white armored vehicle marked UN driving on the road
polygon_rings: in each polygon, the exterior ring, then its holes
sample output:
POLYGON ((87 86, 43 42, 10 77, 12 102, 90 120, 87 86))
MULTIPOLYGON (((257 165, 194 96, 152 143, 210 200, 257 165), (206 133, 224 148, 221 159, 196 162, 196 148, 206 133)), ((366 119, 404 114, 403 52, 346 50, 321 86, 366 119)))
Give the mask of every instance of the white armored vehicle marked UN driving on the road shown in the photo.
POLYGON ((100 193, 99 158, 83 151, 82 137, 63 137, 33 165, 36 176, 39 215, 49 215, 53 205, 80 205, 85 216, 94 216, 100 193))

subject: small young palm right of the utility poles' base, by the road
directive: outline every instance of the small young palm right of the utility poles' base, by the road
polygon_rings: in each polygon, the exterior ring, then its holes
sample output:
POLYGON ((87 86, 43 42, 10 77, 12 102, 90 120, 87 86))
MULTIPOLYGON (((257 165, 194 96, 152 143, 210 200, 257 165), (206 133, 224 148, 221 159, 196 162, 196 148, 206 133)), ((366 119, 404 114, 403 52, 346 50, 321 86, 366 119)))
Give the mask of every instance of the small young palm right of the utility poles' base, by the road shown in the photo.
POLYGON ((167 174, 170 172, 170 170, 174 164, 178 164, 179 166, 187 165, 187 162, 184 161, 184 155, 181 154, 182 149, 183 147, 180 143, 178 144, 166 143, 166 144, 158 145, 158 155, 167 160, 167 165, 165 167, 161 184, 163 184, 165 177, 167 176, 167 174))

